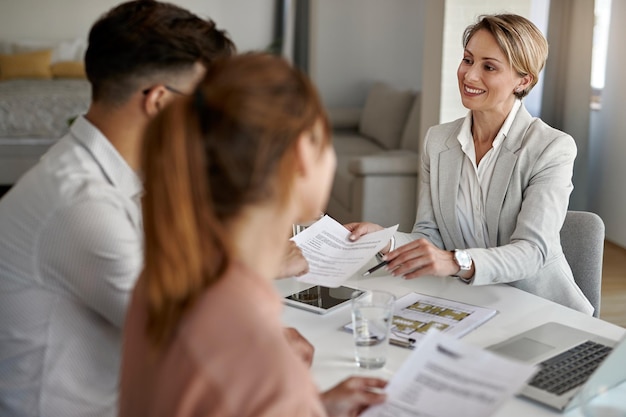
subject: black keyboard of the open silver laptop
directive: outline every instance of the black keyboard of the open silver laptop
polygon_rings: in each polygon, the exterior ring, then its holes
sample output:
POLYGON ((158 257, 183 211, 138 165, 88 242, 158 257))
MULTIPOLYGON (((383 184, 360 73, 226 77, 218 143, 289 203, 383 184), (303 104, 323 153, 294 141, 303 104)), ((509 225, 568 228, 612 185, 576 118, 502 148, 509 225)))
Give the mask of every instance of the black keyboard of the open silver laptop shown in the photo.
POLYGON ((611 350, 600 343, 583 342, 541 362, 541 370, 529 385, 561 395, 585 383, 611 350))

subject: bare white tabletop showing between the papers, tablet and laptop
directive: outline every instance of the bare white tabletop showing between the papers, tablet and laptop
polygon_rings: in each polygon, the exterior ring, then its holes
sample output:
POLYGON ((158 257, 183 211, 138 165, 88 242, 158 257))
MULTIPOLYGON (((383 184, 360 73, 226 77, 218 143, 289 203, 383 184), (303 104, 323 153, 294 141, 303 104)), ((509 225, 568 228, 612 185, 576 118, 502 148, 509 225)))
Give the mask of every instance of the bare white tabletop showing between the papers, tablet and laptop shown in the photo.
MULTIPOLYGON (((374 265, 373 262, 367 267, 372 265, 374 265)), ((494 318, 463 337, 464 341, 481 347, 500 342, 549 321, 592 331, 613 340, 621 339, 626 333, 626 329, 622 327, 586 316, 505 284, 472 287, 456 278, 425 277, 404 280, 386 275, 384 271, 378 271, 367 277, 361 277, 359 273, 346 281, 345 285, 355 288, 384 289, 398 297, 409 292, 419 292, 495 308, 498 314, 494 318)), ((293 279, 276 282, 276 288, 283 295, 297 292, 307 286, 293 279)), ((383 369, 370 371, 359 368, 354 362, 352 335, 340 330, 350 320, 349 303, 326 315, 285 306, 284 324, 298 329, 315 346, 315 358, 311 371, 321 390, 331 388, 351 375, 390 379, 410 353, 409 349, 392 345, 389 346, 387 364, 383 369)), ((505 403, 495 415, 539 417, 562 414, 530 400, 515 397, 505 403)), ((582 413, 579 409, 574 409, 566 415, 577 417, 582 416, 582 413)))

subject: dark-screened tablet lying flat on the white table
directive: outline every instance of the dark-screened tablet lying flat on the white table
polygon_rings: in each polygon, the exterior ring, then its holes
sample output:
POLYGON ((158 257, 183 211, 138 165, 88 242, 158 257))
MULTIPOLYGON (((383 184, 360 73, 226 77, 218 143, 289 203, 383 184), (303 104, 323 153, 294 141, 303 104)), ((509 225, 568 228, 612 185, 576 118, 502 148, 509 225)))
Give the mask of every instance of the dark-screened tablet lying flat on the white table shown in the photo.
POLYGON ((350 304, 350 298, 355 291, 358 291, 359 294, 363 292, 356 288, 344 286, 330 288, 315 285, 286 296, 285 303, 314 313, 326 314, 343 305, 350 304))

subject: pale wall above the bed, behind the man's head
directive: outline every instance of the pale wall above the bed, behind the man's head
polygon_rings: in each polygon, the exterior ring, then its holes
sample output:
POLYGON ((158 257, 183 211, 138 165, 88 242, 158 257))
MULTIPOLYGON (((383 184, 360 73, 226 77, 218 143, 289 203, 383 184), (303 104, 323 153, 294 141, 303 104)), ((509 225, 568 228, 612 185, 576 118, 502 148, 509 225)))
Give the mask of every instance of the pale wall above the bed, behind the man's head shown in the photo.
MULTIPOLYGON (((211 17, 239 50, 264 49, 272 40, 274 0, 171 0, 211 17)), ((93 22, 120 0, 0 0, 0 39, 87 37, 93 22)))

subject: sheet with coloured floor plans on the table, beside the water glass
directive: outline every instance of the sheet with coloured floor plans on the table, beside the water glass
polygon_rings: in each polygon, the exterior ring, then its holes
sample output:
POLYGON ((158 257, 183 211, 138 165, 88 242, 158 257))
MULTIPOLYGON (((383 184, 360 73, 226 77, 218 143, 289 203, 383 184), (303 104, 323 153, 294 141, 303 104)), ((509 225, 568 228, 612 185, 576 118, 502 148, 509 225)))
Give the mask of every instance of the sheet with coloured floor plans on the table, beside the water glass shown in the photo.
MULTIPOLYGON (((458 338, 496 314, 492 308, 412 292, 396 300, 389 343, 413 348, 431 329, 458 338)), ((352 331, 352 323, 344 328, 352 331)))

